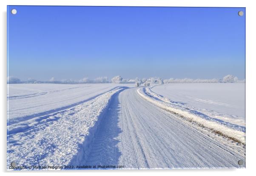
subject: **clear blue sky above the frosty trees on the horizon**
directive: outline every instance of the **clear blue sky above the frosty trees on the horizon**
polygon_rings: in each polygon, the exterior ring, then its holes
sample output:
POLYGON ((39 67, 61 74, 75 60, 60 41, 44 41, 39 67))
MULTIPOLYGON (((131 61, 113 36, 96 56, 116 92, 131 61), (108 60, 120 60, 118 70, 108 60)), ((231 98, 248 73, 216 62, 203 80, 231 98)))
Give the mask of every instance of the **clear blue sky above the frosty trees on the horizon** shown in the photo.
POLYGON ((9 75, 21 80, 245 78, 245 8, 7 8, 9 75))

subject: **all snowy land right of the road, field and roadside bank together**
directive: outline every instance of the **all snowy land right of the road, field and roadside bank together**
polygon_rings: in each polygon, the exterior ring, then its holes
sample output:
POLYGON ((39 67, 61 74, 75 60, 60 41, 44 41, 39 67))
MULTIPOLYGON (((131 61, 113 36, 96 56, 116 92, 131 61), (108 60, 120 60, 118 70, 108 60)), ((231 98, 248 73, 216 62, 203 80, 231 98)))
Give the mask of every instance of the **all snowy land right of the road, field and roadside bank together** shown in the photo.
POLYGON ((245 84, 164 84, 138 93, 156 106, 245 143, 245 84))

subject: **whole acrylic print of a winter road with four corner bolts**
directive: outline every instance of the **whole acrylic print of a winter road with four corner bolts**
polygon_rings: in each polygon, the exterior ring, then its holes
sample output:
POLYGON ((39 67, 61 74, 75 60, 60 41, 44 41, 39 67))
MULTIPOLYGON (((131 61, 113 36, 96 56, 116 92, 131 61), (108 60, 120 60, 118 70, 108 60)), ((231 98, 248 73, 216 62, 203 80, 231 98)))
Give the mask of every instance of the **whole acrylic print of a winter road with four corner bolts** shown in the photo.
POLYGON ((245 168, 245 8, 7 14, 8 170, 245 168))

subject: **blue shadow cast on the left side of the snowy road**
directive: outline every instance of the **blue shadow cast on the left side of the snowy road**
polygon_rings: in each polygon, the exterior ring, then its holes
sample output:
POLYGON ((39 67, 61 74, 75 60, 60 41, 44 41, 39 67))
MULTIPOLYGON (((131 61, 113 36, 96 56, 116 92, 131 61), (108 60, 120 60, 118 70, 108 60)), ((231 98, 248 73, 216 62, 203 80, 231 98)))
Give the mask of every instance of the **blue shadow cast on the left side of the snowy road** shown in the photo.
POLYGON ((74 156, 69 163, 69 165, 73 165, 75 169, 86 169, 83 167, 93 167, 94 165, 96 169, 106 169, 98 168, 98 165, 118 165, 121 152, 117 147, 117 143, 120 142, 117 137, 122 132, 118 126, 121 109, 119 93, 128 89, 128 87, 122 88, 123 89, 112 95, 108 106, 99 116, 99 120, 97 120, 94 127, 90 129, 77 155, 74 156))

